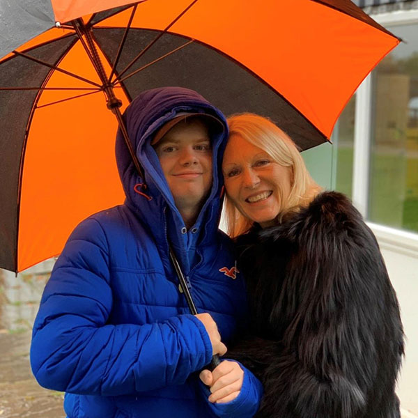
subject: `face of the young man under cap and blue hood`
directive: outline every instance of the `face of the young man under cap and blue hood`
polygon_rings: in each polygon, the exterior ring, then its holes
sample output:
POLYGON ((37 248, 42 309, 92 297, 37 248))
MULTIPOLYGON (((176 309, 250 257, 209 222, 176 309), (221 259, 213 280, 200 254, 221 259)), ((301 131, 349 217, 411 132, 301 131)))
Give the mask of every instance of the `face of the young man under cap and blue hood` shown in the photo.
POLYGON ((178 210, 197 215, 212 185, 208 127, 198 118, 179 122, 157 142, 155 152, 178 210))

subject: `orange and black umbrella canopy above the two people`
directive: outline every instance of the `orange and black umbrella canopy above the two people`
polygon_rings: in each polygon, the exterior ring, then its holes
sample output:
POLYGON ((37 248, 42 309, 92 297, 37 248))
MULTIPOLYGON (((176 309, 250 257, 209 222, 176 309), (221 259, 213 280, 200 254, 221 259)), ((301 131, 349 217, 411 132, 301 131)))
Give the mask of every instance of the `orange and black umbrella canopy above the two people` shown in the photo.
POLYGON ((13 271, 59 254, 80 220, 123 202, 102 93, 111 107, 114 88, 123 109, 148 88, 185 86, 227 115, 269 116, 307 149, 330 138, 399 42, 349 0, 6 3, 0 267, 13 271))

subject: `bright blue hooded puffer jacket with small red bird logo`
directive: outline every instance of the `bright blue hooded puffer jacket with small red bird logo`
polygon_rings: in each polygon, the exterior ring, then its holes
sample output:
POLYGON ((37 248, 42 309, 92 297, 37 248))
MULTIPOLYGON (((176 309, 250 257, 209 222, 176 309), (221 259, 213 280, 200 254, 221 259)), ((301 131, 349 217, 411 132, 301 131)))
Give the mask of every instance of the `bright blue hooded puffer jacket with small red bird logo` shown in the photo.
POLYGON ((168 239, 199 312, 217 322, 222 340, 245 321, 245 288, 229 238, 217 230, 224 134, 212 138, 213 185, 192 229, 167 186, 150 138, 179 111, 224 116, 194 91, 159 88, 125 111, 146 189, 120 132, 116 160, 125 204, 84 220, 56 261, 33 327, 31 366, 40 385, 65 391, 69 418, 251 417, 261 385, 245 370, 238 398, 207 401, 198 377, 212 348, 203 324, 190 315, 168 254, 168 239), (141 192, 139 187, 137 191, 141 192), (222 270, 222 271, 220 271, 222 270), (235 278, 236 276, 236 278, 235 278))

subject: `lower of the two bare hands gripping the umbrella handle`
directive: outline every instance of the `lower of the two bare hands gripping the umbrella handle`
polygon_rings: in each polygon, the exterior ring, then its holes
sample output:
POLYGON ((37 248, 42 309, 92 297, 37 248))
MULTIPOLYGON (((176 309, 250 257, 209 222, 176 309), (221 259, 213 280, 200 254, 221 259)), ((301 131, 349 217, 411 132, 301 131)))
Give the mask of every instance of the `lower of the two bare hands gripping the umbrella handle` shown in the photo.
POLYGON ((224 360, 210 372, 201 371, 201 381, 210 387, 210 402, 226 403, 233 401, 239 394, 244 380, 244 371, 235 362, 224 360))

